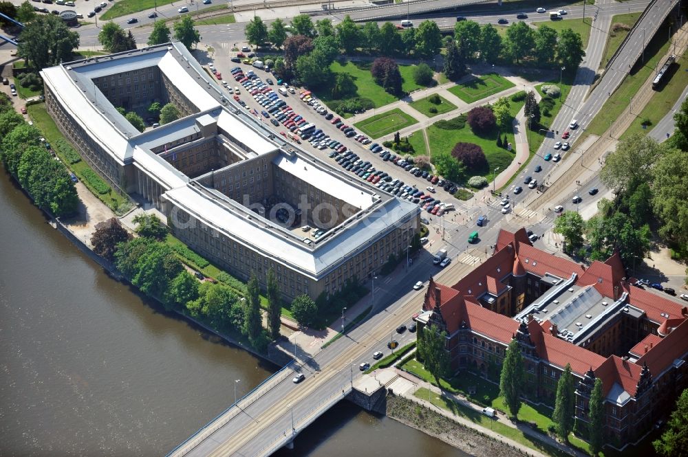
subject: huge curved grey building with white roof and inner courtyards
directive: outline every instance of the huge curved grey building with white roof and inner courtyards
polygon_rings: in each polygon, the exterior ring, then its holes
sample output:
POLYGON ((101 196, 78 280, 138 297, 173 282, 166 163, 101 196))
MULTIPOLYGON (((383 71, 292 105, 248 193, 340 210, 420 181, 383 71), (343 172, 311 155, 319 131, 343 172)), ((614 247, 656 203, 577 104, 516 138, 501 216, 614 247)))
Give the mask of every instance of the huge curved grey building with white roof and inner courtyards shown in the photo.
POLYGON ((231 274, 286 298, 375 274, 418 232, 420 210, 274 135, 224 96, 181 43, 41 71, 65 137, 111 185, 168 216, 173 234, 231 274), (173 103, 143 133, 118 111, 173 103), (304 230, 305 226, 308 230, 304 230))

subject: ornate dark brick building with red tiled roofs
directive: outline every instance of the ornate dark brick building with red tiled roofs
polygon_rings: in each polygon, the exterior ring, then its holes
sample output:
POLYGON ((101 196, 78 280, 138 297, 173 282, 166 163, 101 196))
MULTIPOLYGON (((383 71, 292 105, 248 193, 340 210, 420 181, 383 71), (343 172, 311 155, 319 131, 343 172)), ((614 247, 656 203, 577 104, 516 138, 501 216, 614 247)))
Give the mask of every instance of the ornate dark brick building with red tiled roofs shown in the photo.
POLYGON ((600 378, 605 436, 620 449, 651 430, 688 386, 688 311, 626 277, 618 254, 585 268, 533 247, 524 229, 502 230, 493 255, 455 285, 430 278, 418 331, 447 331, 452 369, 495 382, 516 338, 534 403, 554 405, 570 364, 580 430, 600 378))

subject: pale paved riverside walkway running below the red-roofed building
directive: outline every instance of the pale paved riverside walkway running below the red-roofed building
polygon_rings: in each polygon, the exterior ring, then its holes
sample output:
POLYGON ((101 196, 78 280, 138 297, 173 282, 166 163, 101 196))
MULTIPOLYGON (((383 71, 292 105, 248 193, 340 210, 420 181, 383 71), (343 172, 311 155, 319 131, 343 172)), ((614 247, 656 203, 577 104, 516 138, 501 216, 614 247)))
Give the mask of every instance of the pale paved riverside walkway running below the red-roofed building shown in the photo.
MULTIPOLYGON (((416 392, 420 388, 426 388, 430 392, 433 393, 433 395, 436 396, 442 396, 444 398, 450 399, 451 401, 455 401, 456 403, 459 403, 460 405, 465 406, 466 408, 471 408, 475 412, 482 413, 482 406, 476 405, 475 403, 471 403, 466 397, 463 397, 462 395, 457 395, 457 394, 451 394, 449 392, 444 392, 440 390, 437 386, 434 386, 431 383, 428 383, 426 381, 422 381, 422 379, 418 379, 417 377, 411 375, 409 372, 405 372, 403 370, 400 370, 398 368, 384 368, 383 370, 394 370, 396 372, 396 375, 398 378, 394 379, 389 384, 389 388, 394 391, 395 394, 398 394, 400 397, 404 397, 405 399, 409 399, 415 403, 418 403, 420 405, 423 405, 425 408, 428 408, 432 410, 433 412, 436 412, 438 414, 442 414, 442 416, 445 416, 457 423, 460 423, 462 425, 465 425, 466 427, 469 427, 473 430, 477 430, 478 432, 481 432, 482 434, 486 436, 490 436, 491 438, 497 440, 497 441, 502 441, 504 443, 507 443, 511 447, 515 447, 517 449, 520 449, 524 454, 528 455, 535 455, 535 456, 545 456, 546 454, 542 454, 541 452, 538 452, 536 449, 532 449, 530 447, 524 446, 520 443, 517 443, 516 441, 511 440, 510 438, 506 438, 502 434, 499 434, 497 432, 494 432, 491 429, 488 429, 486 427, 483 427, 480 424, 474 423, 470 419, 467 419, 464 416, 459 416, 457 414, 454 414, 453 412, 450 412, 448 410, 444 410, 443 408, 439 408, 436 405, 433 405, 428 400, 421 399, 419 397, 416 397, 416 392)), ((380 370, 382 371, 382 370, 380 370)), ((574 449, 572 447, 569 447, 567 445, 564 445, 562 443, 559 443, 559 441, 555 440, 549 435, 541 434, 539 432, 535 432, 531 427, 524 423, 513 423, 513 421, 510 421, 504 414, 501 412, 497 411, 497 416, 495 421, 498 421, 499 423, 502 423, 506 425, 507 427, 512 427, 517 430, 520 430, 523 432, 524 435, 530 436, 535 438, 537 441, 541 441, 543 443, 546 443, 552 447, 556 447, 559 449, 561 452, 566 452, 566 454, 572 454, 576 457, 585 457, 587 454, 584 454, 583 452, 578 451, 577 449, 574 449)))

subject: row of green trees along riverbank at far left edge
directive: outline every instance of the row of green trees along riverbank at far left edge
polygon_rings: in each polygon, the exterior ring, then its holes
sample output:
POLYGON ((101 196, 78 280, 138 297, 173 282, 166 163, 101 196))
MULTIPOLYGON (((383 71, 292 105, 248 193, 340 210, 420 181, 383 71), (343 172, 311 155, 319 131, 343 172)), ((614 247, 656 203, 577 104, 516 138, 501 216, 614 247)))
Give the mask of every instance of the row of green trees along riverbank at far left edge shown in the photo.
POLYGON ((0 104, 0 160, 39 208, 55 216, 76 212, 79 198, 69 172, 41 142, 41 132, 24 122, 3 94, 0 104))

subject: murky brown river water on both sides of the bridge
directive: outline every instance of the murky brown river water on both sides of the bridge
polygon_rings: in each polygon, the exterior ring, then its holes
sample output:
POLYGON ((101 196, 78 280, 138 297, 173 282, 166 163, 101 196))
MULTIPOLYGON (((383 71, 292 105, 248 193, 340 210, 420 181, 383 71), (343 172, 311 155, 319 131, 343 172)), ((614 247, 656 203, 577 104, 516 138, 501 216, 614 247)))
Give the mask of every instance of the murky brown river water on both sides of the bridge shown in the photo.
MULTIPOLYGON (((1 456, 164 456, 277 370, 109 278, 4 171, 0 194, 1 456)), ((466 454, 343 401, 278 455, 466 454)))

